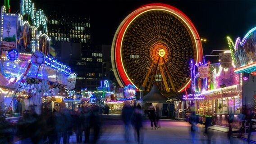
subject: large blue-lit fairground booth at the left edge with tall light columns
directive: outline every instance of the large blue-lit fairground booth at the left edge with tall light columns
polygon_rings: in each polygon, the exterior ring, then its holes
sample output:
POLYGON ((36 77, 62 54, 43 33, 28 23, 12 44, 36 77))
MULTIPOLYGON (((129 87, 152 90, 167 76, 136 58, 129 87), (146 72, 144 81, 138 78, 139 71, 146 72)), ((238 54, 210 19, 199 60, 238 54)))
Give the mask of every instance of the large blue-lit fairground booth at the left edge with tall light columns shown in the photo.
POLYGON ((43 10, 31 0, 21 0, 20 12, 9 14, 1 7, 0 108, 6 117, 31 110, 41 114, 51 106, 43 105, 47 97, 66 97, 65 86, 75 84, 68 81, 75 75, 71 68, 53 57, 43 10))

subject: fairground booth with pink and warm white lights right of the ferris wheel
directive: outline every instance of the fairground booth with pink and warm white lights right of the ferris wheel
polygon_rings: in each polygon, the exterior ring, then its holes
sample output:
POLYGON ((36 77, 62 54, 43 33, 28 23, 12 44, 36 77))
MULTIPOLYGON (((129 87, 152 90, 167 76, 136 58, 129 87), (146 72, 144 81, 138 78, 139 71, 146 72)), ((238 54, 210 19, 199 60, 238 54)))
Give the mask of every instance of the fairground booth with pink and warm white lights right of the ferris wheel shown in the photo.
MULTIPOLYGON (((242 108, 242 75, 233 72, 230 51, 219 53, 220 63, 192 63, 192 91, 183 95, 201 122, 212 117, 213 124, 228 126, 227 117, 237 117, 242 108)), ((234 124, 239 127, 238 123, 234 124)))

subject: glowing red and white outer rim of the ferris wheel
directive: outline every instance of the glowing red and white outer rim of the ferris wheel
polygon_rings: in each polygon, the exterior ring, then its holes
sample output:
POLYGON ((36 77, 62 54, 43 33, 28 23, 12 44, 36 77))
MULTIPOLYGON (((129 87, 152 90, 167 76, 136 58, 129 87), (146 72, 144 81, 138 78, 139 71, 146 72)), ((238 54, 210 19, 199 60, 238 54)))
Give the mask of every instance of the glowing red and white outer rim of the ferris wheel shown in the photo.
MULTIPOLYGON (((112 49, 111 49, 111 62, 113 65, 113 71, 114 75, 117 78, 117 82, 119 83, 120 86, 125 86, 125 85, 134 85, 133 82, 130 80, 128 77, 127 73, 125 72, 125 69, 123 67, 123 60, 122 60, 122 42, 123 42, 123 37, 125 34, 125 31, 128 29, 129 25, 133 22, 134 19, 136 19, 138 16, 140 16, 143 13, 146 13, 148 11, 153 11, 153 10, 162 10, 165 12, 168 12, 170 14, 175 15, 178 19, 182 20, 183 23, 186 24, 186 26, 189 28, 189 32, 191 32, 193 36, 193 40, 196 44, 196 62, 200 62, 202 58, 202 47, 201 47, 201 42, 200 42, 200 37, 196 31, 196 28, 194 27, 193 23, 190 21, 189 18, 185 14, 183 14, 180 10, 174 8, 173 6, 170 6, 168 4, 160 4, 160 3, 154 3, 154 4, 146 4, 135 11, 133 13, 129 14, 123 22, 119 25, 115 35, 114 39, 112 42, 112 49), (121 81, 122 80, 122 81, 121 81)), ((187 82, 187 84, 180 90, 182 91, 187 85, 191 82, 190 80, 187 82)), ((135 85, 136 89, 137 86, 135 85)))

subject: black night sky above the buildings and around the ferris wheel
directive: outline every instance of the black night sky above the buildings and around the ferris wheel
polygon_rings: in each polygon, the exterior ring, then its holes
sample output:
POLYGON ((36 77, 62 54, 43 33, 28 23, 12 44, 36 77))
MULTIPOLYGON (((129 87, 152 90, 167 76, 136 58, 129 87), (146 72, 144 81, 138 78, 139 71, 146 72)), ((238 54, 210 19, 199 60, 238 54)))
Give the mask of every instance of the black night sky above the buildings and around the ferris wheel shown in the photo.
MULTIPOLYGON (((12 13, 17 12, 19 2, 19 0, 10 0, 12 13)), ((89 14, 92 46, 111 45, 117 27, 128 14, 142 5, 155 2, 174 6, 187 15, 199 36, 208 40, 203 43, 204 55, 210 54, 212 50, 228 49, 226 36, 231 36, 235 40, 256 27, 256 0, 32 0, 32 2, 35 3, 36 9, 48 10, 61 7, 71 13, 89 14)), ((3 3, 4 0, 1 0, 1 5, 3 3)))

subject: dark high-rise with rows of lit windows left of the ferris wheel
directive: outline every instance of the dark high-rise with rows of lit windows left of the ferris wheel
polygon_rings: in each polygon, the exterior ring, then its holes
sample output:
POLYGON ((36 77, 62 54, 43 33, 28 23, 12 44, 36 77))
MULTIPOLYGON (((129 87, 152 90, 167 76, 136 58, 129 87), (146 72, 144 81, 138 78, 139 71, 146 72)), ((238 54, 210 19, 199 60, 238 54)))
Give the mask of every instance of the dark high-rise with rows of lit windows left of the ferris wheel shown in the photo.
POLYGON ((91 48, 90 17, 46 11, 50 54, 77 73, 76 90, 96 90, 102 78, 101 49, 91 48))

